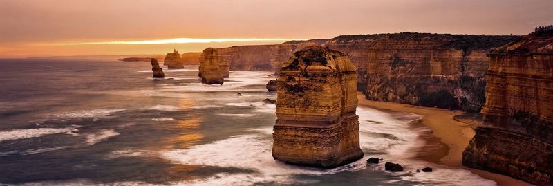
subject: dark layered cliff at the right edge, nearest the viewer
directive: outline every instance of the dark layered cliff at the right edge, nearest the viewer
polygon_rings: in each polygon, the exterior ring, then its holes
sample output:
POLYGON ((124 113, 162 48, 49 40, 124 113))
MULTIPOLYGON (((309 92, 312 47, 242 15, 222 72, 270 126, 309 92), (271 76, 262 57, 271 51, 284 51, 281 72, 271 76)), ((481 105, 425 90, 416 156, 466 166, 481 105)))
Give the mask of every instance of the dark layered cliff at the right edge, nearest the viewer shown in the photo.
POLYGON ((553 31, 489 54, 483 124, 462 164, 553 185, 553 31))

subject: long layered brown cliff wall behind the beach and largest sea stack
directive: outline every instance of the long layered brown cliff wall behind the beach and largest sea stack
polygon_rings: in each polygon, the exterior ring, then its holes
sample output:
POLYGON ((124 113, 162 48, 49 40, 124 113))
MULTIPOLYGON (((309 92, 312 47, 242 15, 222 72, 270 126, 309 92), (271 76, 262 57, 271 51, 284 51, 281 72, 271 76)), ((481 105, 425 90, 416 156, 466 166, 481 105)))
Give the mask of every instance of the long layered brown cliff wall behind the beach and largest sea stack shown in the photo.
POLYGON ((358 90, 364 91, 371 100, 422 105, 422 98, 427 100, 445 90, 455 102, 444 109, 480 111, 485 100, 486 54, 517 38, 405 32, 345 35, 218 50, 228 59, 232 70, 275 71, 278 74, 279 66, 295 51, 306 46, 324 46, 350 57, 358 68, 358 90))

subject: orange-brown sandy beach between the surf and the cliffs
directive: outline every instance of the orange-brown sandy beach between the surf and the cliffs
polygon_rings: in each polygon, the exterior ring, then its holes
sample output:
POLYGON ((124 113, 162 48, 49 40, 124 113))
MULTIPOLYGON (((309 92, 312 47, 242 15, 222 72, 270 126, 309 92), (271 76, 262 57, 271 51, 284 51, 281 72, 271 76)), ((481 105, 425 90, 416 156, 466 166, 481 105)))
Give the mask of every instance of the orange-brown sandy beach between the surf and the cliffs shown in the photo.
POLYGON ((461 115, 462 111, 449 111, 395 102, 378 102, 366 100, 365 95, 357 92, 359 106, 368 106, 383 111, 395 111, 415 113, 423 115, 420 123, 429 127, 431 132, 423 133, 420 138, 426 141, 426 145, 419 149, 417 158, 449 167, 467 169, 482 178, 494 180, 497 185, 531 185, 522 180, 516 180, 509 176, 495 174, 479 169, 471 169, 462 166, 462 151, 469 145, 474 136, 474 125, 454 120, 455 115, 461 115))

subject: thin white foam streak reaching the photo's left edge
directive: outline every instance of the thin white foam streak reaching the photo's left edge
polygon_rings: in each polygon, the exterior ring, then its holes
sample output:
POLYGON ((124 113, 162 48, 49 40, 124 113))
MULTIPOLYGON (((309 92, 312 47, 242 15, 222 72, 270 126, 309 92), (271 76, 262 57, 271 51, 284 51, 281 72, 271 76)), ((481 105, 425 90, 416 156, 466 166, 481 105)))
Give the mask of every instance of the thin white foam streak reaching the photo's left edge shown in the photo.
POLYGON ((16 129, 10 131, 0 131, 0 142, 6 140, 19 140, 25 138, 37 138, 55 133, 71 133, 78 129, 67 128, 38 128, 38 129, 16 129))

